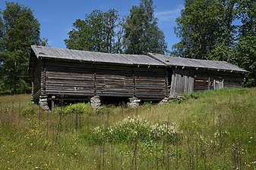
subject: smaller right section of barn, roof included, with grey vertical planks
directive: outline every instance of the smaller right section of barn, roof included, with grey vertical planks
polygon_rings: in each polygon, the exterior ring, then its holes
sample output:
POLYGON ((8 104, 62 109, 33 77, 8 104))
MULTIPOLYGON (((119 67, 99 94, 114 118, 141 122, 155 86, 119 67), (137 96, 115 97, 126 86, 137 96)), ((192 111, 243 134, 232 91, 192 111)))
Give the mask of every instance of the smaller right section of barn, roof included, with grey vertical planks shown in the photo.
POLYGON ((226 61, 149 54, 166 64, 170 97, 192 91, 243 87, 248 71, 226 61))

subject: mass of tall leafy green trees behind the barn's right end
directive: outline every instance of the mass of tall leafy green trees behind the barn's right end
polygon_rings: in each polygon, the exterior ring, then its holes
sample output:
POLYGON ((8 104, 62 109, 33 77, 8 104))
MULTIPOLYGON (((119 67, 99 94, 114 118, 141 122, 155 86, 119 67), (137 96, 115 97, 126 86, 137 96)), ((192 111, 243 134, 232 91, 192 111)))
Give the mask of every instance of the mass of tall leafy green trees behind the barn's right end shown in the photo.
POLYGON ((185 1, 176 19, 172 54, 207 60, 225 60, 251 72, 246 85, 255 86, 256 4, 249 0, 185 1))

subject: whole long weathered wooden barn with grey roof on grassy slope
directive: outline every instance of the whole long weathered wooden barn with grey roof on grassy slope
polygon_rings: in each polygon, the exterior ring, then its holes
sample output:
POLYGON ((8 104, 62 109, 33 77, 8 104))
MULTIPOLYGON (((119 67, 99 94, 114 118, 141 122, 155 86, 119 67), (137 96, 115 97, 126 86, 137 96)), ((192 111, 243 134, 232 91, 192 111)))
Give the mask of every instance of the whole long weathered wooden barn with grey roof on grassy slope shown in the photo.
POLYGON ((248 73, 223 61, 31 48, 31 99, 44 109, 54 100, 162 100, 191 91, 242 87, 248 73))

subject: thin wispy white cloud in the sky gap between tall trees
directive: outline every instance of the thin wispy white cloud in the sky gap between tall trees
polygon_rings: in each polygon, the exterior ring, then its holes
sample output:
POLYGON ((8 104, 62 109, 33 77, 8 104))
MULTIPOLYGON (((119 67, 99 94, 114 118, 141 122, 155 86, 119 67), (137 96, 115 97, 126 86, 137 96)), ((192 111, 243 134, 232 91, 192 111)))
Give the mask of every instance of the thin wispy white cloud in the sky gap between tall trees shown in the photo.
POLYGON ((179 5, 177 8, 169 11, 156 11, 155 17, 159 22, 173 21, 180 16, 180 12, 184 9, 183 5, 179 5))

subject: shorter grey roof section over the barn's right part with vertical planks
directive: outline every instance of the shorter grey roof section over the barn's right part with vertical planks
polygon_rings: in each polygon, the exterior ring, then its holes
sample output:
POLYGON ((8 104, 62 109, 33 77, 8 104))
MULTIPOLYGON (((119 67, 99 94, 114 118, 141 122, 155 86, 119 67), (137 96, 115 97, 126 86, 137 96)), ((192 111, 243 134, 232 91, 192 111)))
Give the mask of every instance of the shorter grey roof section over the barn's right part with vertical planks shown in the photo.
POLYGON ((231 63, 226 61, 219 60, 198 60, 191 58, 183 57, 172 57, 162 54, 149 54, 151 57, 156 60, 160 60, 166 64, 166 66, 180 66, 180 67, 192 67, 192 68, 201 68, 207 70, 219 70, 219 71, 229 71, 229 72, 239 72, 239 73, 248 73, 247 70, 239 68, 231 63))

